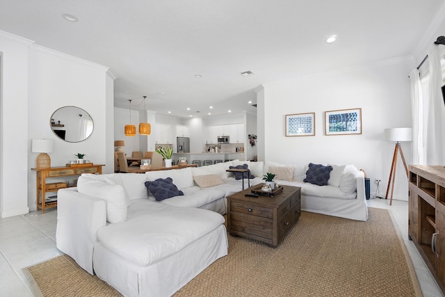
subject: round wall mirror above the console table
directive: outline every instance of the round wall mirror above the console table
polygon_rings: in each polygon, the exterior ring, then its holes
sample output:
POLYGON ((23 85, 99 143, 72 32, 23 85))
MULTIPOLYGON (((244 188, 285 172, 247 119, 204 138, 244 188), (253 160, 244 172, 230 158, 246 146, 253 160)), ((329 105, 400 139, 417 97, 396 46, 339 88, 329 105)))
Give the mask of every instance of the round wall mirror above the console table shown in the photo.
POLYGON ((86 140, 94 129, 90 115, 76 106, 63 106, 54 111, 49 125, 58 138, 69 143, 86 140))

